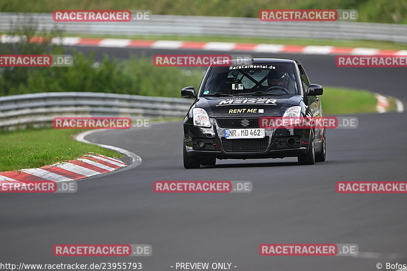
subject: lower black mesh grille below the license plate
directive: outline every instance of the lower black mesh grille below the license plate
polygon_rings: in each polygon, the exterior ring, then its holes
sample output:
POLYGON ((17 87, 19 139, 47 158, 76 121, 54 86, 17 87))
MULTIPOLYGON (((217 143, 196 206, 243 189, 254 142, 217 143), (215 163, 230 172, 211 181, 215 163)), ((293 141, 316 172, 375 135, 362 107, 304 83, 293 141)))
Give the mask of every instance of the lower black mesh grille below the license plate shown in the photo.
POLYGON ((227 153, 266 152, 269 137, 244 139, 226 139, 222 137, 222 145, 227 153))

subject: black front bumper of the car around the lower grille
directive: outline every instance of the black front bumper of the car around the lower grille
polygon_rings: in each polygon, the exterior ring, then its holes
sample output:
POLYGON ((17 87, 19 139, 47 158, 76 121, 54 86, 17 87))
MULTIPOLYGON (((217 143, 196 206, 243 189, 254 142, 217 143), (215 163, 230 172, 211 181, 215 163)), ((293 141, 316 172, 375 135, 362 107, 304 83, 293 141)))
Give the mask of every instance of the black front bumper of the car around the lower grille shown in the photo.
POLYGON ((226 139, 225 130, 228 128, 219 127, 215 118, 211 118, 211 123, 211 128, 184 123, 184 142, 188 156, 218 159, 284 158, 297 157, 308 150, 309 128, 270 128, 265 130, 263 139, 226 139), (290 143, 295 139, 294 145, 287 144, 289 138, 290 143))

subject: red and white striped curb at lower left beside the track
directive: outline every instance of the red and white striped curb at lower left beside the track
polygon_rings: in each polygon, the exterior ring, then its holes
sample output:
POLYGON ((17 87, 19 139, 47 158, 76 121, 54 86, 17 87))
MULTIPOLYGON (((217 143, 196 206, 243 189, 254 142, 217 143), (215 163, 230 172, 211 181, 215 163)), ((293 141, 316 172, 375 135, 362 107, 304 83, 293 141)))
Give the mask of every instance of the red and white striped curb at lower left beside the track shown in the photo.
POLYGON ((126 164, 111 157, 88 154, 76 160, 57 163, 40 168, 28 168, 18 171, 0 172, 2 183, 24 183, 24 182, 68 182, 85 177, 112 172, 126 164))

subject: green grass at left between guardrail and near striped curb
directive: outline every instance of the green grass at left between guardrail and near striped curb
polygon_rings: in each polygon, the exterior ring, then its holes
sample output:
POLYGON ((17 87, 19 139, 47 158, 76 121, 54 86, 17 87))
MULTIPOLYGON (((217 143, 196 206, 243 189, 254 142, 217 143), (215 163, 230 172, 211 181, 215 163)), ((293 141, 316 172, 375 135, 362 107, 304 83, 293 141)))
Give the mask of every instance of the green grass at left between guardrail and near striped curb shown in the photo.
POLYGON ((37 168, 78 158, 86 153, 123 155, 110 149, 75 141, 80 130, 52 128, 0 132, 0 171, 37 168))

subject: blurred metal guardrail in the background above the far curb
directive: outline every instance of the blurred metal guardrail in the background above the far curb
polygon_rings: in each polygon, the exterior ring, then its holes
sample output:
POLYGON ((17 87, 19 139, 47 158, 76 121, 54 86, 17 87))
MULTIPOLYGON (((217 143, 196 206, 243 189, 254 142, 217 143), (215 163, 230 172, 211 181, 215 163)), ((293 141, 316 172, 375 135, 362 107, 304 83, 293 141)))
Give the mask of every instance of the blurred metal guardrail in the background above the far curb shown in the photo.
MULTIPOLYGON (((264 22, 258 18, 151 15, 150 20, 130 22, 54 22, 51 13, 31 13, 39 27, 54 25, 69 34, 88 35, 174 35, 241 36, 261 38, 301 38, 376 40, 407 43, 407 25, 364 22, 264 22)), ((0 13, 0 32, 7 32, 16 13, 0 13)), ((21 16, 21 15, 20 15, 21 16)), ((26 15, 23 15, 26 16, 26 15)))

